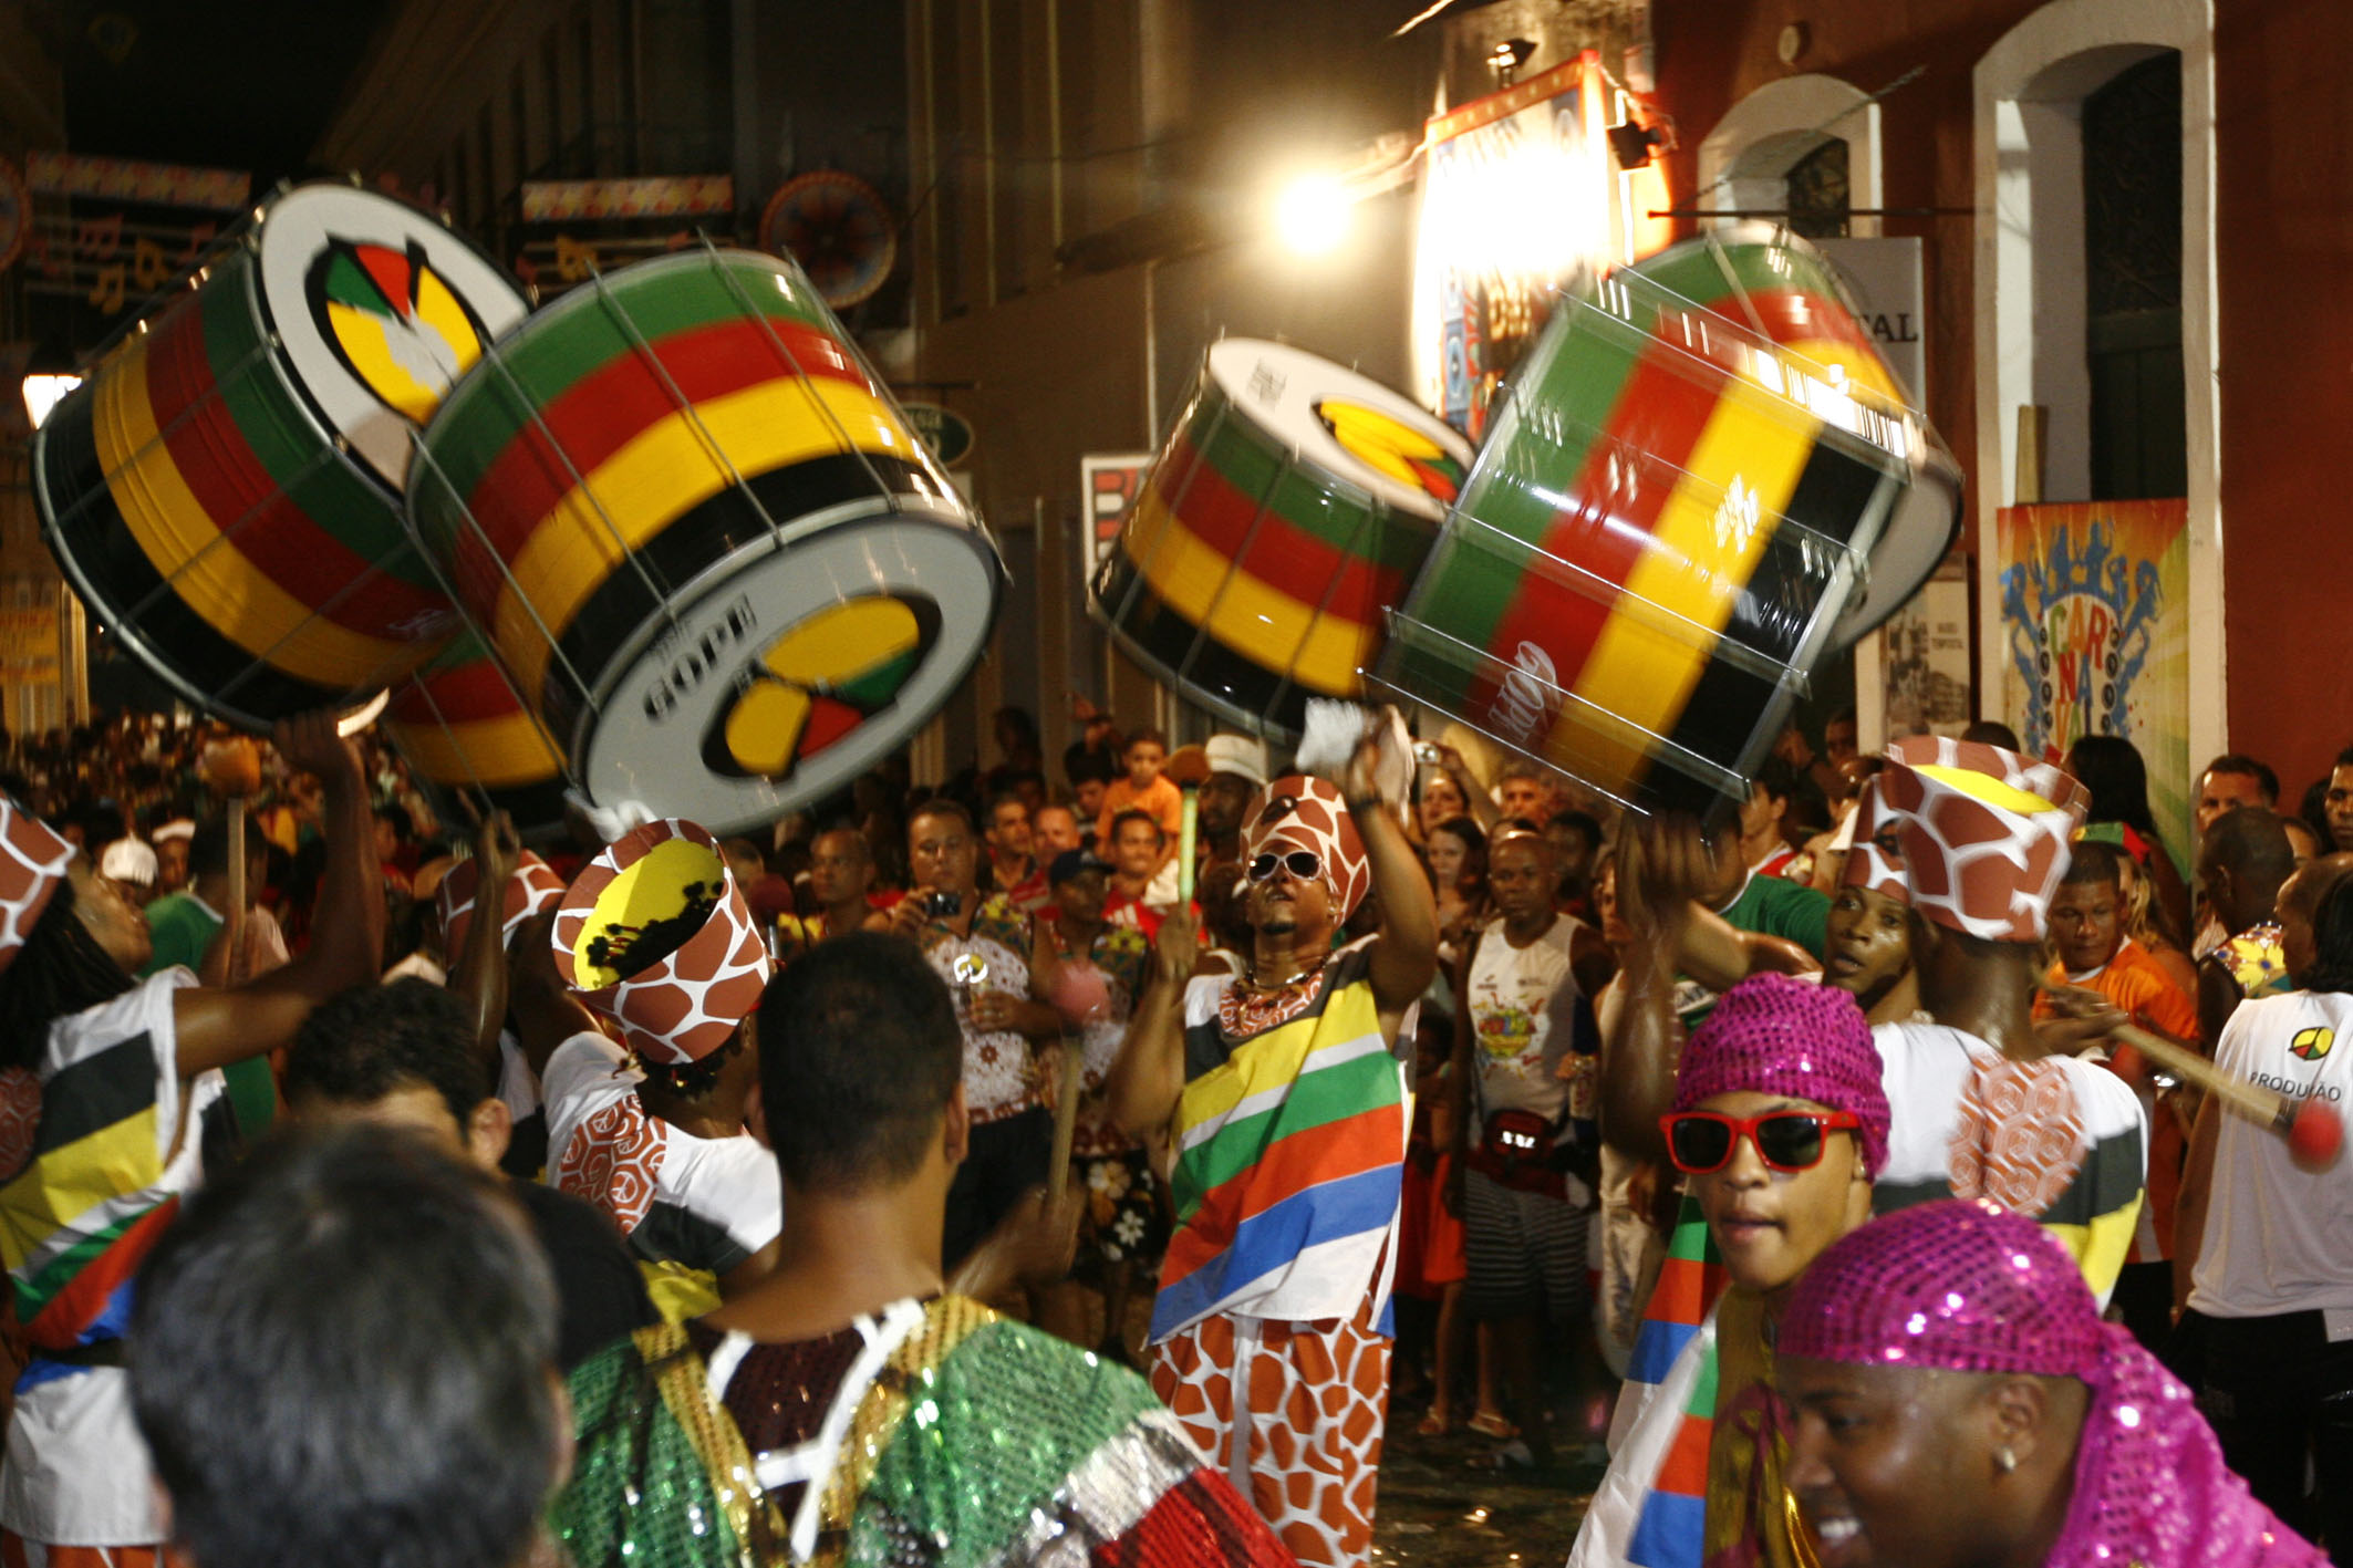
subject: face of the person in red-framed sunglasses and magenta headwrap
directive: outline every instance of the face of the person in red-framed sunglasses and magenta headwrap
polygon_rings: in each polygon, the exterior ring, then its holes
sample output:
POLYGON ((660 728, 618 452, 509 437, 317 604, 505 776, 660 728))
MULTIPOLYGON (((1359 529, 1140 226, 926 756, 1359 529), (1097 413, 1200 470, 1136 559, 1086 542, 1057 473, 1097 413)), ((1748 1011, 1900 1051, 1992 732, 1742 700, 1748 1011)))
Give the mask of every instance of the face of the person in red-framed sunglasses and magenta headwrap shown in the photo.
MULTIPOLYGON (((1791 1095, 1734 1088, 1708 1095, 1699 1110, 1727 1117, 1762 1117, 1772 1110, 1828 1112, 1828 1105, 1791 1095)), ((1708 1218, 1708 1234, 1725 1255, 1725 1272, 1751 1291, 1798 1284, 1826 1246, 1871 1213, 1871 1180, 1854 1133, 1824 1135, 1821 1161, 1807 1171, 1774 1171, 1758 1154, 1755 1138, 1737 1138, 1720 1171, 1687 1175, 1692 1197, 1708 1218)))

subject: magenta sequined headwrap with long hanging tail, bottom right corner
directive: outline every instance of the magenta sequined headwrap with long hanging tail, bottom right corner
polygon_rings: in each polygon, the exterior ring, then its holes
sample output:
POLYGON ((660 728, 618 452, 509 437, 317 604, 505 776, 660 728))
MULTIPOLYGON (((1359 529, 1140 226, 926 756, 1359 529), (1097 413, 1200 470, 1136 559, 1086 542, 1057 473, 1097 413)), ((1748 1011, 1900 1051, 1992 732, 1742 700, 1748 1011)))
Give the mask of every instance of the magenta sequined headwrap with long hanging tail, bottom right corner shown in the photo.
POLYGON ((2068 1251, 1995 1204, 1920 1204, 1835 1241, 1798 1279, 1779 1354, 2089 1387, 2075 1493, 2045 1568, 2327 1561, 2247 1495, 2191 1392, 2099 1319, 2068 1251))

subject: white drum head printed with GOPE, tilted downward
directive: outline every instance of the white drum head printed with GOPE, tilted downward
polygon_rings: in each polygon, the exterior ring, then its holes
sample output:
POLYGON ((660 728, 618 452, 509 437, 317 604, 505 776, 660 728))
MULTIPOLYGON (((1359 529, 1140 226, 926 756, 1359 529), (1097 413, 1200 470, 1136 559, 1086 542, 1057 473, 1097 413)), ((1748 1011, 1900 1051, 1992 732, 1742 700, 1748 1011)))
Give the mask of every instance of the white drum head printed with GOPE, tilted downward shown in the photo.
POLYGON ((576 748, 600 806, 718 835, 821 799, 972 670, 1005 569, 967 522, 821 522, 718 569, 628 656, 576 748))

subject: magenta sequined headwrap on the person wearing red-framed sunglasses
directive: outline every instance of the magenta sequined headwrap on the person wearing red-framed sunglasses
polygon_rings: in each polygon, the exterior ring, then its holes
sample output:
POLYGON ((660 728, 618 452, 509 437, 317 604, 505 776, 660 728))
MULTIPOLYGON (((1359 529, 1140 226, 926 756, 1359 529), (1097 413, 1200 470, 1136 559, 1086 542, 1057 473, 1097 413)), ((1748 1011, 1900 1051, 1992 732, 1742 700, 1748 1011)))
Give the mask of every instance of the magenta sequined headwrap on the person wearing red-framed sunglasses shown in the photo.
POLYGON ((1871 1020, 1842 990, 1791 976, 1748 976, 1682 1046, 1675 1110, 1720 1093, 1769 1093, 1854 1112, 1864 1171, 1887 1168, 1887 1091, 1871 1020))

